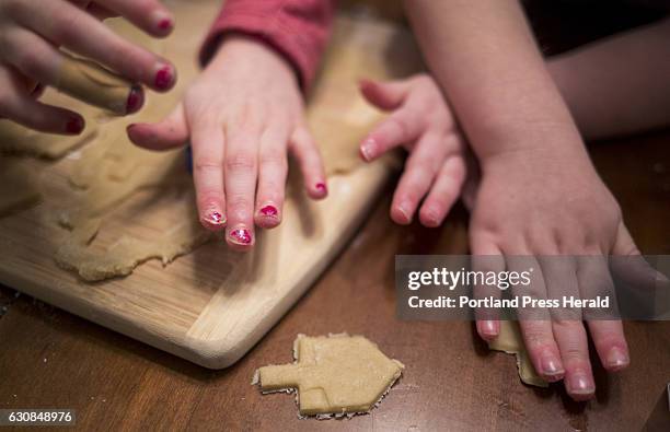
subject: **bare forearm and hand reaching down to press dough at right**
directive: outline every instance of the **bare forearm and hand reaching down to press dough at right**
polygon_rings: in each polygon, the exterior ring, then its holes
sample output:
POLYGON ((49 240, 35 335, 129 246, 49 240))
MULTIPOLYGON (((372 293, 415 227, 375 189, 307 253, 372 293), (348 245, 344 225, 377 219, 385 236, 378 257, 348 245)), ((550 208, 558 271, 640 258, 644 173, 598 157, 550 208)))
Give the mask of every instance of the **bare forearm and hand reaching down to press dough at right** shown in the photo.
MULTIPOLYGON (((414 0, 406 4, 428 65, 482 167, 470 222, 473 267, 481 266, 477 257, 484 255, 498 256, 500 270, 518 265, 515 256, 534 256, 541 276, 533 281, 532 295, 557 297, 566 290, 589 295, 594 284, 588 276, 594 273, 609 290, 607 266, 590 268, 592 264, 579 256, 638 252, 616 200, 588 157, 519 3, 414 0), (542 259, 546 255, 574 258, 558 268, 542 259)), ((576 400, 593 396, 587 332, 580 319, 524 319, 520 327, 538 373, 546 381, 564 380, 576 400)), ((627 366, 621 322, 591 320, 588 328, 607 370, 627 366)), ((492 340, 499 323, 480 319, 477 331, 492 340)))

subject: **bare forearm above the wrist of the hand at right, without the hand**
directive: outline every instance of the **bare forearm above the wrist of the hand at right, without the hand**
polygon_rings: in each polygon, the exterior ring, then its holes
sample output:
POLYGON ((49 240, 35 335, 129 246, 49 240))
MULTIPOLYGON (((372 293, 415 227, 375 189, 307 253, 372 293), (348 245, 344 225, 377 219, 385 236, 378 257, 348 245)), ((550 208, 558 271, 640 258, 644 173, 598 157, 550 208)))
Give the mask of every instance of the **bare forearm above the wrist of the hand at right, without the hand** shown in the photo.
POLYGON ((584 153, 517 1, 406 4, 426 60, 481 162, 535 145, 584 153))

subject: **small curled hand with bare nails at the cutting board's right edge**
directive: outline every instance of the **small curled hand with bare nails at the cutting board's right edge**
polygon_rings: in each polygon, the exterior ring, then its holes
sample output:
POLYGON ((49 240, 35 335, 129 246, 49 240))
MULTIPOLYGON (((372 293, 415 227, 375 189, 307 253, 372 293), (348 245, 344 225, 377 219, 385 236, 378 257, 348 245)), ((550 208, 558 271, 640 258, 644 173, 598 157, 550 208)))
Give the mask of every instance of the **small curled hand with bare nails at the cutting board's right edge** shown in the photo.
POLYGON ((377 107, 393 113, 360 145, 370 162, 403 145, 409 156, 391 205, 391 219, 419 220, 439 226, 461 195, 465 179, 464 143, 451 110, 432 78, 418 74, 402 81, 362 81, 360 90, 377 107))

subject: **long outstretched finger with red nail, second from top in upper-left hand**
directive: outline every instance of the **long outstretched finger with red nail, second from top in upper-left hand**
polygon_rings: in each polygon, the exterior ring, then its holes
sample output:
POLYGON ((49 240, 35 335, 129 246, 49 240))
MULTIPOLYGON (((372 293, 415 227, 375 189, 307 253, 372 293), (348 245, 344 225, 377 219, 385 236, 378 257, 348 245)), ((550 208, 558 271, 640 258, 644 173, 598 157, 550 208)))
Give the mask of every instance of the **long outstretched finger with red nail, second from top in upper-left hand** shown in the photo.
POLYGON ((21 24, 57 46, 95 60, 130 81, 168 91, 176 82, 176 70, 164 59, 118 36, 95 17, 69 2, 44 0, 44 13, 15 8, 21 24))

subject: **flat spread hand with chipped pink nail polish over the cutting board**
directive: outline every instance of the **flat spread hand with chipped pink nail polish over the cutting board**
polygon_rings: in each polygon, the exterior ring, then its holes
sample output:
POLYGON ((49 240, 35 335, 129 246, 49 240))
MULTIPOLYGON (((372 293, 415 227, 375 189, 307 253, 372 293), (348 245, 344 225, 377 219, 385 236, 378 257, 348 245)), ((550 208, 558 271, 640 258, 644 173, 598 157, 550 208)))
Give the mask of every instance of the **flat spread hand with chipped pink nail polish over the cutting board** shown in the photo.
POLYGON ((289 151, 308 196, 327 195, 296 73, 253 37, 229 35, 170 116, 131 125, 128 135, 151 150, 181 147, 190 137, 200 221, 212 231, 226 227, 238 250, 253 247, 255 225, 281 222, 289 151))

